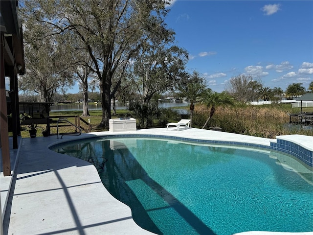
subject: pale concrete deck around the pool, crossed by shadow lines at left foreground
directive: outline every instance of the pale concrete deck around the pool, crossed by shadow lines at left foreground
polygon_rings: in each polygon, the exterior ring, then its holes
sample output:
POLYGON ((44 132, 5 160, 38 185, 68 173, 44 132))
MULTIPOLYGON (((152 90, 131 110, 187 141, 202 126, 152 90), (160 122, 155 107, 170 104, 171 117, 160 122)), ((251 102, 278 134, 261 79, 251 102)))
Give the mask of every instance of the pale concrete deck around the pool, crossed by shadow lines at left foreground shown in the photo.
MULTIPOLYGON (((81 136, 24 138, 12 150, 13 176, 0 175, 3 234, 152 234, 137 226, 131 210, 103 186, 92 164, 48 149, 53 143, 98 135, 140 134, 177 136, 190 139, 238 141, 270 146, 271 139, 196 128, 157 128, 131 132, 95 132, 81 136), (10 182, 12 184, 10 185, 10 182), (11 187, 11 193, 10 192, 11 187)), ((249 232, 245 234, 264 234, 249 232)), ((277 234, 277 233, 268 233, 277 234)), ((286 234, 286 233, 284 233, 286 234)), ((292 233, 295 234, 295 233, 292 233)), ((299 233, 313 235, 311 233, 299 233)))

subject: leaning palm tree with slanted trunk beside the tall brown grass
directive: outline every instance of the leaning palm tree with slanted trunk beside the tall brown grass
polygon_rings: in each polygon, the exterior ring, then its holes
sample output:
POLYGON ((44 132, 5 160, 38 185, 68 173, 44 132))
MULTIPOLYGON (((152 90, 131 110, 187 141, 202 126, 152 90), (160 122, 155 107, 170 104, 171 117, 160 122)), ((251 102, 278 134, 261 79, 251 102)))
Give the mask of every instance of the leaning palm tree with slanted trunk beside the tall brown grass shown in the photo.
POLYGON ((215 107, 219 105, 232 105, 235 106, 234 98, 230 97, 226 92, 217 93, 212 92, 212 90, 206 90, 203 95, 202 103, 205 103, 207 107, 211 107, 210 116, 206 119, 206 122, 202 126, 202 129, 207 125, 209 120, 212 118, 215 112, 215 107))

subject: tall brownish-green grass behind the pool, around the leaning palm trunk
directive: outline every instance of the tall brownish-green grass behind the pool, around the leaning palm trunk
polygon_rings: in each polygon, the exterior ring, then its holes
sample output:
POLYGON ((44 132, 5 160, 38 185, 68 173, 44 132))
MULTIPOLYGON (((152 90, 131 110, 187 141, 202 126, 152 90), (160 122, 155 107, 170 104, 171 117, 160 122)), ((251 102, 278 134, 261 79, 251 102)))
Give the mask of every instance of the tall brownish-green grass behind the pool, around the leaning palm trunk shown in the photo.
MULTIPOLYGON (((297 112, 290 106, 275 104, 268 106, 240 105, 217 107, 209 126, 223 128, 225 132, 274 139, 278 135, 300 134, 313 136, 313 128, 288 125, 289 113, 297 112)), ((203 105, 195 107, 193 123, 203 125, 209 109, 203 105)))

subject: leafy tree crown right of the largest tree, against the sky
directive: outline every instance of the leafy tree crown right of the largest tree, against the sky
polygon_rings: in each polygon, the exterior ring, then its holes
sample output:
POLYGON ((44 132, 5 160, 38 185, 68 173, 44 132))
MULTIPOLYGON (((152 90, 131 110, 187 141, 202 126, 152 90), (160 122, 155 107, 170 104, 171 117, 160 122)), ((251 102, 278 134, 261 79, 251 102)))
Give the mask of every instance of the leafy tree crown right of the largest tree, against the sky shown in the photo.
POLYGON ((188 53, 173 46, 174 34, 174 31, 165 28, 162 34, 150 31, 149 40, 134 58, 133 81, 146 104, 156 93, 173 91, 184 75, 188 53))

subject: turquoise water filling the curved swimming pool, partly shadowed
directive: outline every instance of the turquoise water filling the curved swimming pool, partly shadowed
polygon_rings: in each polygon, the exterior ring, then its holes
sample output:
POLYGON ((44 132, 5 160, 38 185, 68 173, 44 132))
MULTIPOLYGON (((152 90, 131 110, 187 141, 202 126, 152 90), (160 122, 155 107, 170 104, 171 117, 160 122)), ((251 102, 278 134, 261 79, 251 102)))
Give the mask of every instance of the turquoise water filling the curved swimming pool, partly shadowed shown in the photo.
POLYGON ((96 166, 156 234, 313 231, 313 172, 272 150, 162 139, 92 139, 53 150, 96 166))

